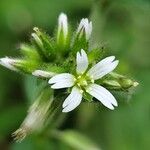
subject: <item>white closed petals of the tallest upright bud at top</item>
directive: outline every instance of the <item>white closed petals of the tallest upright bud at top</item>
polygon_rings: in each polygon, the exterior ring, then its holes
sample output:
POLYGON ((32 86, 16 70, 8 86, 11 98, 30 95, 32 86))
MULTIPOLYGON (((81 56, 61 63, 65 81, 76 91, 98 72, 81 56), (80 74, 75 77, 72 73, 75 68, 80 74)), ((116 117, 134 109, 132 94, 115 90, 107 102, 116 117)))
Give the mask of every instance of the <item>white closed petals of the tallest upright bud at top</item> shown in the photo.
POLYGON ((61 13, 58 17, 58 37, 61 32, 63 32, 64 39, 66 39, 68 35, 68 21, 64 13, 61 13))

